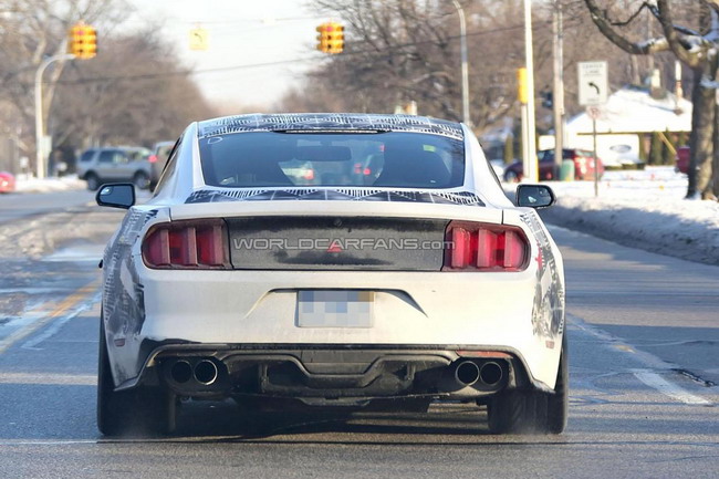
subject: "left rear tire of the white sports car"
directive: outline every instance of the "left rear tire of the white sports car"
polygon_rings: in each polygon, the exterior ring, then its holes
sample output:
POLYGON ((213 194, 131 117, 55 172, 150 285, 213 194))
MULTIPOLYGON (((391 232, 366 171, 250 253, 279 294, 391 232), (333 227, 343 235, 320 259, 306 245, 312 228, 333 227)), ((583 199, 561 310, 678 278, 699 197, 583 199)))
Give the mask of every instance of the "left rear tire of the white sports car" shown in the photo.
POLYGON ((129 391, 115 391, 104 322, 101 323, 97 429, 105 436, 169 434, 176 426, 176 404, 175 395, 161 388, 136 387, 129 391))

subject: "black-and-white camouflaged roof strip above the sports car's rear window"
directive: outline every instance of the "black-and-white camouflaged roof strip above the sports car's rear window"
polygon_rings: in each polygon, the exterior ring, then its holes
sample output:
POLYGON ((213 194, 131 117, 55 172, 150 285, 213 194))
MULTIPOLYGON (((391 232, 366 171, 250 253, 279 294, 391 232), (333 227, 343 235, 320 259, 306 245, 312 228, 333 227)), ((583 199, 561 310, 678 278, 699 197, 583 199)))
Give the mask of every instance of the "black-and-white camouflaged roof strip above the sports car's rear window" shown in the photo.
POLYGON ((249 114, 225 116, 198 123, 200 138, 240 132, 415 132, 463 139, 461 124, 414 115, 363 113, 249 114))

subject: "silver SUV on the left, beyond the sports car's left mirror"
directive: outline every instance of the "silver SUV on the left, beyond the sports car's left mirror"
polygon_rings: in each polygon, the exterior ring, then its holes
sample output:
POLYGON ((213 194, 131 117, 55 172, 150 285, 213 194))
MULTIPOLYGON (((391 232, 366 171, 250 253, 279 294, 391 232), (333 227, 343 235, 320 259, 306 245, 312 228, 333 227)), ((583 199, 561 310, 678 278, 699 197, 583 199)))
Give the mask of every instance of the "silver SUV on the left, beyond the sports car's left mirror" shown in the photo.
POLYGON ((85 150, 77 162, 77 177, 94 191, 104 183, 132 181, 137 188, 149 187, 150 150, 140 147, 104 147, 85 150))

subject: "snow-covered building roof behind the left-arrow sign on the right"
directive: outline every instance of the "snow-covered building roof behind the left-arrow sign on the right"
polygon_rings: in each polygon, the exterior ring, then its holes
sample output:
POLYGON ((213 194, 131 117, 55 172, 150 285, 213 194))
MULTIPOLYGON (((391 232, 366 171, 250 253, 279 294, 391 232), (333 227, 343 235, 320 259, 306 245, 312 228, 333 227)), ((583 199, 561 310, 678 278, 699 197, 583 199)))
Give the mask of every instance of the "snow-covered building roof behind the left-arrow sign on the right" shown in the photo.
MULTIPOLYGON (((597 133, 690 132, 691 102, 666 92, 653 98, 648 88, 625 86, 612 94, 600 107, 597 133), (677 110, 678 106, 678 110, 677 110)), ((569 134, 591 134, 592 118, 581 113, 566 123, 569 134)))

